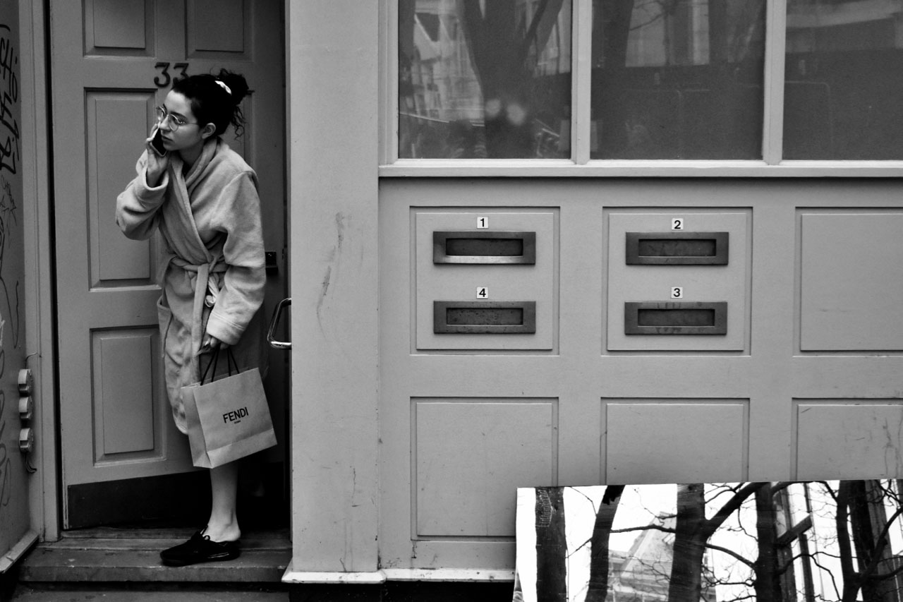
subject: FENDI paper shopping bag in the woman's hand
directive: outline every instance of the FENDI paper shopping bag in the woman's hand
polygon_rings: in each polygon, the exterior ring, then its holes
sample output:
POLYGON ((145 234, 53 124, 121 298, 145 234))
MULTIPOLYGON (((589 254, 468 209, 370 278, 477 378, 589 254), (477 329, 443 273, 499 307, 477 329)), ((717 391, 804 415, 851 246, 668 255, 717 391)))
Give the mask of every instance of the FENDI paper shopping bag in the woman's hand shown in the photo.
POLYGON ((184 387, 182 399, 194 466, 215 468, 276 444, 256 368, 184 387))

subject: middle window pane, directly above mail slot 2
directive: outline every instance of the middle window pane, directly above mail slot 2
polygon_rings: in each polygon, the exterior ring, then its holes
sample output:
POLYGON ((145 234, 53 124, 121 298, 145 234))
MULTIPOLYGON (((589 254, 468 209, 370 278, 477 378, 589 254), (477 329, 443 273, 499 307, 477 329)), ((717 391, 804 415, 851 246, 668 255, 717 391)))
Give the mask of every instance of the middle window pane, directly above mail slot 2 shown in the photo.
POLYGON ((592 7, 592 158, 761 158, 765 0, 592 7))

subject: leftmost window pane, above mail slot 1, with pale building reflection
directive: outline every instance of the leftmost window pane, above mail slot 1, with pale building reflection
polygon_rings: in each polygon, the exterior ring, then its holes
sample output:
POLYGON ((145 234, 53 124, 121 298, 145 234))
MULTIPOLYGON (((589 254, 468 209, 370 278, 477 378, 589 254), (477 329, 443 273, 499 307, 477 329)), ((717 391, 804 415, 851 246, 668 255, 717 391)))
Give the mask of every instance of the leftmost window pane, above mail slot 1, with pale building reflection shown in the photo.
POLYGON ((571 0, 398 10, 399 157, 570 157, 571 0))

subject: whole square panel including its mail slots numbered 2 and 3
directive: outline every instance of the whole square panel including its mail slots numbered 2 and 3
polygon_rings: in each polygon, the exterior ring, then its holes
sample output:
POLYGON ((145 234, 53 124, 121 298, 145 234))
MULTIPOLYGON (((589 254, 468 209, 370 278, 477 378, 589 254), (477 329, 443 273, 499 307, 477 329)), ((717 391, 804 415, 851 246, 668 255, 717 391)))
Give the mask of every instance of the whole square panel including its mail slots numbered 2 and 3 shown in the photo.
POLYGON ((749 351, 751 210, 605 212, 606 348, 749 351))

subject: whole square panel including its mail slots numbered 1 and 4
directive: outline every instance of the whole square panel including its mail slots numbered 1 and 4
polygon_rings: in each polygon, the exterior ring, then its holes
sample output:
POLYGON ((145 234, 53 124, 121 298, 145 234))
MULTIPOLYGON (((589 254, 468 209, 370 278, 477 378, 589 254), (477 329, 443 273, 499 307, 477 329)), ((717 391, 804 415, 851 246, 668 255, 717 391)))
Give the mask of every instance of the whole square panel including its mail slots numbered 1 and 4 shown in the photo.
POLYGON ((558 210, 414 210, 416 351, 551 351, 558 210))

